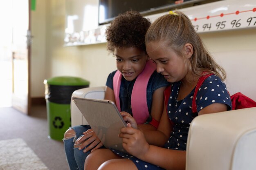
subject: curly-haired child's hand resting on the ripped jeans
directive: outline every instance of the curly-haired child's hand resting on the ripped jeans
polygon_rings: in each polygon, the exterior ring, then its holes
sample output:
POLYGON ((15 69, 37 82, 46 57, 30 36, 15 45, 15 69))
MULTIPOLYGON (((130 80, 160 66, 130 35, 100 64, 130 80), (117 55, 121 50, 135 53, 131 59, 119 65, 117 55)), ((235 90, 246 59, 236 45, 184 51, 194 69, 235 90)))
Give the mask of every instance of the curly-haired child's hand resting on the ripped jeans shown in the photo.
POLYGON ((103 146, 103 144, 92 129, 83 132, 83 136, 79 137, 76 140, 76 144, 81 144, 81 146, 79 146, 79 150, 82 150, 86 147, 83 152, 88 152, 89 150, 91 150, 92 152, 103 146))

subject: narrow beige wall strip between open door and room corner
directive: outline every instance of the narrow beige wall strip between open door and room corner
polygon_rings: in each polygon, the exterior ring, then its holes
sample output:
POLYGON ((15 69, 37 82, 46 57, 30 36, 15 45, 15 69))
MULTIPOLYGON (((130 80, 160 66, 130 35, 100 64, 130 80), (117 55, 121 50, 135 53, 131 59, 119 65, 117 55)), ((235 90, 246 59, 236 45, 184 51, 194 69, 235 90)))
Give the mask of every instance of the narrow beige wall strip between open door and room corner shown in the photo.
POLYGON ((45 78, 46 63, 46 2, 36 1, 36 10, 31 11, 31 97, 44 96, 43 80, 45 78))

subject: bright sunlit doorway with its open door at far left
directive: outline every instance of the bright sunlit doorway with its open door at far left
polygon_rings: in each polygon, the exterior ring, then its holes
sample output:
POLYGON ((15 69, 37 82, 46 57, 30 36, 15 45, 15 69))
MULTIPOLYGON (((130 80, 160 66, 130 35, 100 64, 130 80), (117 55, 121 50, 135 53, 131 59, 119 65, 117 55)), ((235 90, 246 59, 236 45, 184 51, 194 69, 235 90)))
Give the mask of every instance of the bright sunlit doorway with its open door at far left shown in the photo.
POLYGON ((0 2, 0 107, 28 114, 29 0, 0 2))

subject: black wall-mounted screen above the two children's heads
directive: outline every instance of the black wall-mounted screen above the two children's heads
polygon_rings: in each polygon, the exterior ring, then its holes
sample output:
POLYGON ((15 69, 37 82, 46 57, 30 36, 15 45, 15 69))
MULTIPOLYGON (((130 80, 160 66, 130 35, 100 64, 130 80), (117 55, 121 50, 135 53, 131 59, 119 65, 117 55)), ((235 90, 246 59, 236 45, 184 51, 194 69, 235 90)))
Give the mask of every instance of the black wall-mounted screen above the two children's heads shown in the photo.
POLYGON ((202 0, 99 0, 99 24, 106 24, 129 10, 142 15, 202 0))

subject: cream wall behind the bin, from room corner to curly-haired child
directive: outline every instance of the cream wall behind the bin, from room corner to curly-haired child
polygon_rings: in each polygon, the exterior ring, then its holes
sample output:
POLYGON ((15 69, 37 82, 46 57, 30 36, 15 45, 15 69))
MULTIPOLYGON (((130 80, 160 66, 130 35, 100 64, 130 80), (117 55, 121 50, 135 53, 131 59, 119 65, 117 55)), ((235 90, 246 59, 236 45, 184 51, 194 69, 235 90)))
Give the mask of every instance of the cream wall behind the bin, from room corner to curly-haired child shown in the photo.
MULTIPOLYGON (((115 69, 114 58, 108 55, 106 43, 63 47, 65 3, 63 0, 48 0, 47 2, 51 3, 47 3, 46 9, 46 55, 49 66, 46 78, 68 75, 87 79, 90 81, 90 86, 104 86, 108 74, 115 69)), ((94 5, 97 5, 97 0, 94 2, 94 5)))

